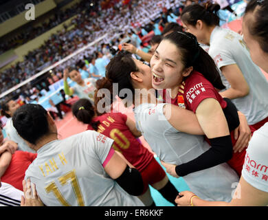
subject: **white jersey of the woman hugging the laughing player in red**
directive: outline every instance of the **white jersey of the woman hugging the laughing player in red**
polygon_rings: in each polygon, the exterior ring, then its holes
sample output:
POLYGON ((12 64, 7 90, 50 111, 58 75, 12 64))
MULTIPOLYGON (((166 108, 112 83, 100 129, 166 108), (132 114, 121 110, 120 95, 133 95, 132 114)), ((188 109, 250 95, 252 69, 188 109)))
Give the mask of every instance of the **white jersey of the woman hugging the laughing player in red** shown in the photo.
MULTIPOLYGON (((210 148, 203 135, 177 131, 163 113, 164 103, 144 103, 135 107, 136 126, 160 160, 168 164, 184 164, 210 148)), ((238 175, 226 163, 190 173, 183 177, 190 190, 201 199, 231 201, 238 175)))

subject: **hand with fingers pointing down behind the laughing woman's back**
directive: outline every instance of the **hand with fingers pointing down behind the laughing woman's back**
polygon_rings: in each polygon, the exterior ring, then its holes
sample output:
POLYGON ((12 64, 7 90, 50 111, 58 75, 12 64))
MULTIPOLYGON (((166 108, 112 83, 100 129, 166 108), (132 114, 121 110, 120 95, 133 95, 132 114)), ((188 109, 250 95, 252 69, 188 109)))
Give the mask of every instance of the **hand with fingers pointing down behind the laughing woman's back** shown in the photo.
POLYGON ((252 131, 247 124, 247 118, 245 115, 238 111, 239 126, 234 129, 234 139, 236 144, 234 145, 234 153, 243 151, 243 148, 249 145, 249 140, 252 138, 252 131))

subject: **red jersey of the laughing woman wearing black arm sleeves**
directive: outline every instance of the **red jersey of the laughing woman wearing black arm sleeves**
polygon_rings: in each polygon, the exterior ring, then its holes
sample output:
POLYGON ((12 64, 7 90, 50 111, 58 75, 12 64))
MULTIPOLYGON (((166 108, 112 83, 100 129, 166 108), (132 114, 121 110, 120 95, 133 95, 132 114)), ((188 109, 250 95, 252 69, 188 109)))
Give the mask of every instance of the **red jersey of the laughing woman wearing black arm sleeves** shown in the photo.
MULTIPOLYGON (((166 102, 168 102, 167 98, 170 97, 166 97, 166 95, 168 95, 168 93, 166 94, 164 91, 163 98, 166 102)), ((171 103, 195 113, 200 102, 205 98, 214 98, 218 100, 222 109, 227 107, 227 102, 223 100, 222 96, 218 93, 218 91, 216 91, 210 81, 199 72, 193 71, 192 74, 190 74, 190 76, 181 83, 177 97, 171 98, 171 103)), ((236 144, 234 131, 230 131, 230 135, 234 146, 236 144)), ((207 137, 205 137, 205 140, 210 144, 207 137)), ((241 153, 233 153, 232 159, 227 162, 227 164, 236 170, 236 173, 238 173, 239 176, 241 176, 245 153, 245 148, 241 151, 241 153)))

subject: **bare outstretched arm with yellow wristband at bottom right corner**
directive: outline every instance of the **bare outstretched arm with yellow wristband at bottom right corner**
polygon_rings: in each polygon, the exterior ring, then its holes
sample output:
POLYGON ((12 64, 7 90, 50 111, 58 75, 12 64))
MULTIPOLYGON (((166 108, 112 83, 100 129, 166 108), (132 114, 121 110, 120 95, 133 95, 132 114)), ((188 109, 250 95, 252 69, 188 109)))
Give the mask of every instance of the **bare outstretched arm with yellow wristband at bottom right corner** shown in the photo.
MULTIPOLYGON (((177 197, 175 202, 178 206, 190 206, 190 199, 194 193, 189 191, 180 192, 181 197, 177 197)), ((233 198, 230 203, 225 201, 205 201, 198 197, 192 198, 193 206, 267 206, 268 205, 268 192, 258 190, 250 185, 241 177, 233 198)))

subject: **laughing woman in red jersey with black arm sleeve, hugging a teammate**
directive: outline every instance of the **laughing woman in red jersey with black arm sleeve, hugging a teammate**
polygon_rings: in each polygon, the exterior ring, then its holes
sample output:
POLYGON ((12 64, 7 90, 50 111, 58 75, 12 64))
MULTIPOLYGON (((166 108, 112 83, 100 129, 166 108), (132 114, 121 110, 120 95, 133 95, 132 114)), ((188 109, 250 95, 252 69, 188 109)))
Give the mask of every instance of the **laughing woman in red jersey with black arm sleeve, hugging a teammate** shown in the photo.
MULTIPOLYGON (((192 159, 188 164, 176 166, 177 175, 188 175, 222 162, 228 162, 241 175, 245 157, 243 147, 249 141, 250 131, 245 139, 242 137, 244 143, 238 147, 241 152, 232 155, 232 144, 236 144, 234 129, 239 125, 236 107, 230 100, 223 100, 216 91, 225 87, 214 61, 199 46, 196 37, 187 32, 173 32, 164 37, 150 66, 153 74, 162 78, 159 81, 154 76, 153 87, 166 91, 171 89, 170 94, 163 92, 164 100, 171 98, 172 104, 193 111, 212 144, 208 152, 192 159)), ((234 149, 236 148, 237 145, 234 149)))

